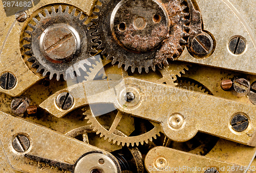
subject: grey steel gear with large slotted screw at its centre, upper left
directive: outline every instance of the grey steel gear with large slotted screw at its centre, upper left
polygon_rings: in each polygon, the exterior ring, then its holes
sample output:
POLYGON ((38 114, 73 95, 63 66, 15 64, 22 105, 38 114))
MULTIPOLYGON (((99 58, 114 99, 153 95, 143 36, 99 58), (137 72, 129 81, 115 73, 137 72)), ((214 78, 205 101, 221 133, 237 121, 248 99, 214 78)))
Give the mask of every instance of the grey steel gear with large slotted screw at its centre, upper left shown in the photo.
POLYGON ((91 35, 95 30, 89 30, 91 23, 84 24, 88 17, 83 17, 82 12, 76 15, 76 11, 80 10, 67 6, 63 12, 59 6, 56 12, 52 6, 51 13, 45 9, 45 16, 38 13, 39 17, 33 18, 35 26, 28 24, 33 31, 25 31, 31 35, 24 38, 30 42, 24 45, 30 49, 25 54, 32 55, 28 61, 33 62, 32 67, 36 67, 37 72, 43 71, 43 77, 50 73, 50 79, 55 75, 57 80, 61 76, 67 80, 69 74, 73 79, 75 75, 80 76, 80 69, 87 71, 95 61, 90 55, 95 52, 92 46, 97 46, 91 35))

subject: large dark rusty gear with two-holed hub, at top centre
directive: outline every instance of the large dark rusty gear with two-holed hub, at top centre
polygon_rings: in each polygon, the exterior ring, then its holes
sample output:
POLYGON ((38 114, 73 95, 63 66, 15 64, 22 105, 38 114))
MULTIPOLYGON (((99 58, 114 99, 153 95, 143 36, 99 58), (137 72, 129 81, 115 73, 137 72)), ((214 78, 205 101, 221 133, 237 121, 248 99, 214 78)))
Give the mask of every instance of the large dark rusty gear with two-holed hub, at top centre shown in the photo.
POLYGON ((184 50, 183 37, 188 27, 185 19, 189 14, 187 7, 179 0, 100 0, 102 3, 94 33, 101 42, 102 54, 113 59, 113 64, 124 64, 132 72, 142 68, 154 71, 156 65, 168 64, 167 59, 174 60, 184 50))

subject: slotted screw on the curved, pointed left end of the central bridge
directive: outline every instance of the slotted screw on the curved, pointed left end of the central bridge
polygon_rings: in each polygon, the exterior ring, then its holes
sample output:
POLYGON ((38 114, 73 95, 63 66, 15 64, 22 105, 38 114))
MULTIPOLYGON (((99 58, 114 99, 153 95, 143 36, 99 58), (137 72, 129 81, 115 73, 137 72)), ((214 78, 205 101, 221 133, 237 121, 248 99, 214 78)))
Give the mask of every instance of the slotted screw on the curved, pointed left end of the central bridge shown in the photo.
POLYGON ((60 109, 70 109, 74 104, 73 96, 68 92, 61 92, 56 98, 56 104, 60 109))

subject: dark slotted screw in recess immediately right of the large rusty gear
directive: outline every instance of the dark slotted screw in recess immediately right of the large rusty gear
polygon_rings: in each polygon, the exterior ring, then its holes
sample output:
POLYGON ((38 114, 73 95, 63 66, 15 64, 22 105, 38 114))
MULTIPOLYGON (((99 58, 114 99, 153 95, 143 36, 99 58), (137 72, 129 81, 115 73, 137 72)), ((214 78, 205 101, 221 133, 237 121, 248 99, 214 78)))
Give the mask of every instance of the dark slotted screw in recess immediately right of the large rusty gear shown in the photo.
POLYGON ((198 56, 208 55, 214 47, 212 38, 206 33, 194 37, 191 46, 191 50, 198 56))

